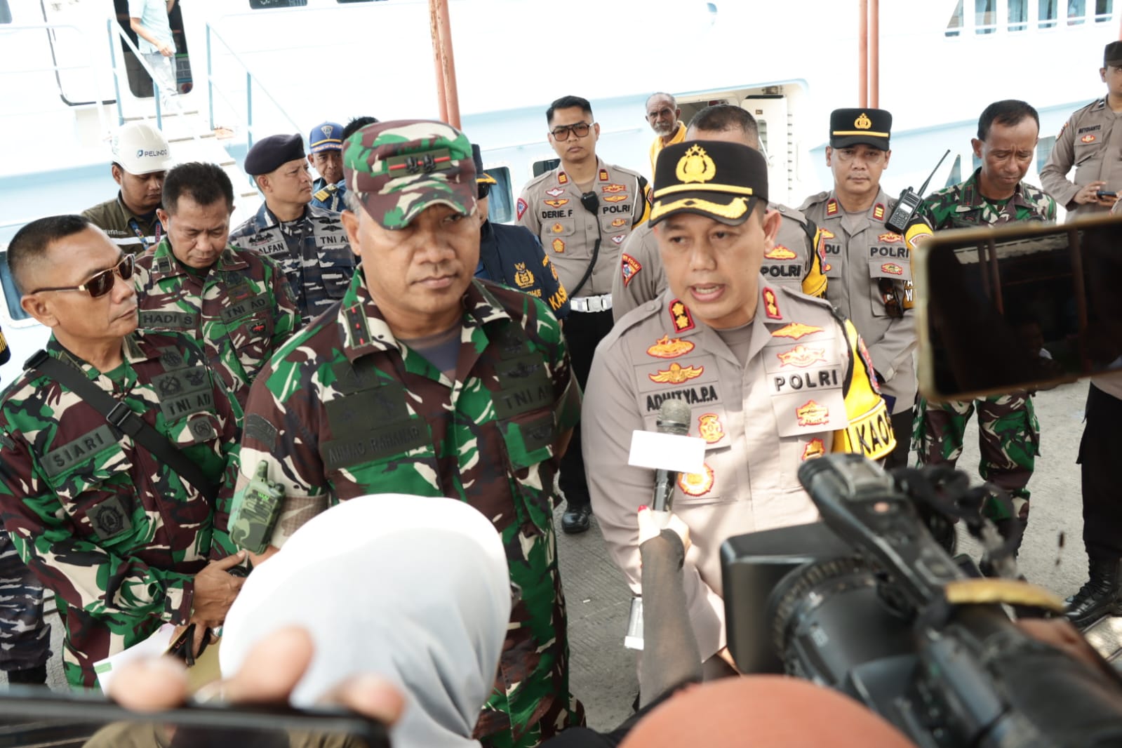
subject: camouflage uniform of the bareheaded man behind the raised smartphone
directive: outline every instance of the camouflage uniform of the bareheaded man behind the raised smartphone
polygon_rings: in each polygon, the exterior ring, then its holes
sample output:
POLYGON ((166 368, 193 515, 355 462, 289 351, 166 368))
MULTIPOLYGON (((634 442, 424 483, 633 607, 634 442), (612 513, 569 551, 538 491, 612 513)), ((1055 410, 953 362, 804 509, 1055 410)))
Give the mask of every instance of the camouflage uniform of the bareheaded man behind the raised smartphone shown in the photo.
MULTIPOLYGON (((978 188, 981 169, 966 182, 931 193, 923 201, 936 231, 1012 221, 1055 221, 1056 201, 1032 185, 1020 183, 1012 198, 994 203, 978 188)), ((977 400, 934 404, 919 400, 919 417, 912 432, 912 449, 920 464, 949 463, 963 453, 963 434, 977 409, 982 459, 978 474, 1013 496, 1017 516, 1029 516, 1029 479, 1040 446, 1040 425, 1028 393, 984 397, 977 400)), ((996 502, 987 502, 991 519, 1011 519, 996 502)))

